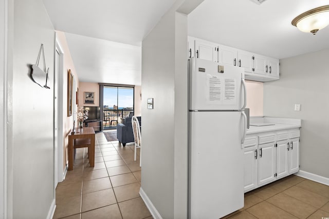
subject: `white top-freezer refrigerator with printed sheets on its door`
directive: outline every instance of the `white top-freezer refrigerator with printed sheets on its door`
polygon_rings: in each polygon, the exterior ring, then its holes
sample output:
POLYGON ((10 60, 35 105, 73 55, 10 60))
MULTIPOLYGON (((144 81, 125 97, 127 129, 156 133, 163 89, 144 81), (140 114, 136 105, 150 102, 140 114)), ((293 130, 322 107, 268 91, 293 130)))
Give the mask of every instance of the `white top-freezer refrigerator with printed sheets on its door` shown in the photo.
POLYGON ((189 60, 189 218, 244 206, 244 69, 189 60))

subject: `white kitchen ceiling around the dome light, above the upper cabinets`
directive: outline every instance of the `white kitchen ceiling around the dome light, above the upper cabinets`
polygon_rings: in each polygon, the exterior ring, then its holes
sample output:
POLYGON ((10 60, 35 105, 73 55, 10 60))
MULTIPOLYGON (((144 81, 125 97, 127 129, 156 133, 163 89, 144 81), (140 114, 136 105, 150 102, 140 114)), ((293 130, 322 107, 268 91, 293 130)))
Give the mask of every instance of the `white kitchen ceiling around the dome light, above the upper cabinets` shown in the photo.
POLYGON ((291 21, 328 0, 205 0, 188 15, 189 35, 215 43, 286 58, 329 48, 329 27, 316 35, 299 31, 291 21))

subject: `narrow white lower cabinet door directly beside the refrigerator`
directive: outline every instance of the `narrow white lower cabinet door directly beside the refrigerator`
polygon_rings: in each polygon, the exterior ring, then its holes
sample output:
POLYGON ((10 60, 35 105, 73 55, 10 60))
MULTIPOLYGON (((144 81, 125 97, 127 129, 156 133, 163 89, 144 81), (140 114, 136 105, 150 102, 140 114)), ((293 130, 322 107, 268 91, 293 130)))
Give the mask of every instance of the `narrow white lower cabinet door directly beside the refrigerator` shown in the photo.
POLYGON ((257 145, 244 149, 244 191, 250 191, 257 187, 258 170, 257 145))

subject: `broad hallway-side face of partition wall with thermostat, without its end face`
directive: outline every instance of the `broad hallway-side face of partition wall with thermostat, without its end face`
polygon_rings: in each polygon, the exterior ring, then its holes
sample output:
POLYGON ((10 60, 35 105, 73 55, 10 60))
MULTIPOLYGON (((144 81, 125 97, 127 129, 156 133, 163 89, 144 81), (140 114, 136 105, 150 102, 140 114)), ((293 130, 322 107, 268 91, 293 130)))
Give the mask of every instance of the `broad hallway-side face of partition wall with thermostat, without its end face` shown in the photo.
POLYGON ((163 218, 174 218, 175 12, 142 42, 141 188, 163 218), (153 98, 154 109, 147 109, 153 98))

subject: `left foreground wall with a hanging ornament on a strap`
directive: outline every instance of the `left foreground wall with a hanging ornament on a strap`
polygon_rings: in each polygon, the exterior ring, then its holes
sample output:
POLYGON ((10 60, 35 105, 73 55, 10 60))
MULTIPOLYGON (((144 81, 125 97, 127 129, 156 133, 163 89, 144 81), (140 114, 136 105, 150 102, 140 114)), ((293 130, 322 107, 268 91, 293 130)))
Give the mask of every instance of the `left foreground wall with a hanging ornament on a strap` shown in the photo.
POLYGON ((15 0, 13 4, 12 71, 8 68, 8 218, 46 218, 54 207, 53 88, 33 83, 28 64, 35 64, 44 44, 47 84, 53 85, 54 30, 42 0, 15 0))

